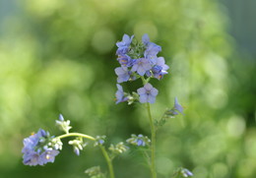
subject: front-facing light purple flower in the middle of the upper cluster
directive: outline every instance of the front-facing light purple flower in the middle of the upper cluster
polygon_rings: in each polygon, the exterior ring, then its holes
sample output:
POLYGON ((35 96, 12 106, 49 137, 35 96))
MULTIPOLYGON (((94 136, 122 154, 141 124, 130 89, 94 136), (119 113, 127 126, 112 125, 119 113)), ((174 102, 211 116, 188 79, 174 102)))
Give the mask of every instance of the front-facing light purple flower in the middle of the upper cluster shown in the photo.
POLYGON ((140 76, 144 76, 145 73, 152 68, 151 63, 146 58, 137 59, 131 69, 133 72, 137 72, 140 76))

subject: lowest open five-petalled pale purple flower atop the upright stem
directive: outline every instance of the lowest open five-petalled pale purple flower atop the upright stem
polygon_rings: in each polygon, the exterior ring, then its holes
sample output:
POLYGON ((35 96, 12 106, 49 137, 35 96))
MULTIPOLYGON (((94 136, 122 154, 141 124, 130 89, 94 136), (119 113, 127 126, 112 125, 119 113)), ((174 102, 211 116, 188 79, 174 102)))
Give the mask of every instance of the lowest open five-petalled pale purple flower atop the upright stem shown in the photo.
POLYGON ((156 96, 159 93, 158 89, 153 88, 151 84, 146 84, 143 88, 137 89, 138 94, 140 95, 140 102, 150 102, 154 103, 156 96))

